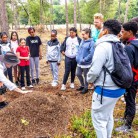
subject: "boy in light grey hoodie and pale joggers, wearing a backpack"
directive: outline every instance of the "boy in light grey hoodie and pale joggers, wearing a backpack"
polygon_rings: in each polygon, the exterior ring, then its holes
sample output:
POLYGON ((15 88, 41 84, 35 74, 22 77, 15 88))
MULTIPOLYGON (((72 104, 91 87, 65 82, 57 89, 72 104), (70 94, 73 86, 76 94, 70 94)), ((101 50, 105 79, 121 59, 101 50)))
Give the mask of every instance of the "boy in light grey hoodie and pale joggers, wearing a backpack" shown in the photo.
POLYGON ((114 69, 112 44, 110 42, 120 41, 117 37, 120 31, 121 24, 117 20, 107 20, 104 22, 100 39, 95 44, 93 61, 87 74, 87 81, 94 83, 95 86, 92 96, 92 122, 97 138, 111 138, 114 124, 114 107, 121 95, 125 93, 125 89, 118 87, 107 72, 106 77, 104 77, 103 70, 103 66, 110 72, 114 69))

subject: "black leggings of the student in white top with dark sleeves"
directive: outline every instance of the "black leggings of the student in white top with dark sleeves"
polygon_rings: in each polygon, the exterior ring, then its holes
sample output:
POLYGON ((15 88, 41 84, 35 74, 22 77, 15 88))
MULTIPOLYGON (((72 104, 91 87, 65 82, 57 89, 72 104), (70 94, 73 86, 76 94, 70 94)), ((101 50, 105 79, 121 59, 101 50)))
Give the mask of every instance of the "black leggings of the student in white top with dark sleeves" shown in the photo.
POLYGON ((70 72, 71 72, 71 83, 74 83, 76 67, 77 67, 76 58, 65 57, 65 73, 63 78, 63 84, 67 83, 70 72))

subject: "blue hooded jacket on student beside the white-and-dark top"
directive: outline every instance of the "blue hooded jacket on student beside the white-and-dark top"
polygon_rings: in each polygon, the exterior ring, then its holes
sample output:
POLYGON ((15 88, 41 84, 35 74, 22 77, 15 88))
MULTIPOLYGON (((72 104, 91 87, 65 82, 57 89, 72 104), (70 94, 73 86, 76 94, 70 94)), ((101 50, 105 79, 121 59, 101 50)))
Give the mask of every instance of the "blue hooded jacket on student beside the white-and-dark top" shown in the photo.
POLYGON ((76 61, 78 65, 90 65, 94 54, 93 39, 82 40, 78 48, 76 61))

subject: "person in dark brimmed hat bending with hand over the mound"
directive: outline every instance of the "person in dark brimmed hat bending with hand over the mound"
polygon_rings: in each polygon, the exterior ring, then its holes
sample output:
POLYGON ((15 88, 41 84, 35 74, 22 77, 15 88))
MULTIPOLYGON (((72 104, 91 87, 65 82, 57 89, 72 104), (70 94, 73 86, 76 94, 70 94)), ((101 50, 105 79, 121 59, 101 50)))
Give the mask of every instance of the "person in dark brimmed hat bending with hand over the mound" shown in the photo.
MULTIPOLYGON (((8 80, 4 74, 7 68, 16 66, 18 63, 19 63, 19 59, 13 52, 7 52, 5 55, 0 55, 0 89, 6 86, 10 91, 19 92, 22 94, 31 92, 31 91, 22 91, 14 83, 8 80)), ((0 93, 0 109, 7 106, 7 102, 5 102, 3 93, 4 91, 0 93)))

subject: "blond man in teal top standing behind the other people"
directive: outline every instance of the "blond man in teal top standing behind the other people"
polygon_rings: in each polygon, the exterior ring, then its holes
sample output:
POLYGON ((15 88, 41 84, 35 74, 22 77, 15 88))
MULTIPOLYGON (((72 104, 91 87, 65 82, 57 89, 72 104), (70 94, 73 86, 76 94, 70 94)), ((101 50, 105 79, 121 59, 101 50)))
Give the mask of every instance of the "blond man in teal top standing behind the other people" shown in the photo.
POLYGON ((91 37, 94 42, 99 38, 99 34, 103 28, 103 15, 101 13, 94 14, 94 27, 91 30, 91 37))

